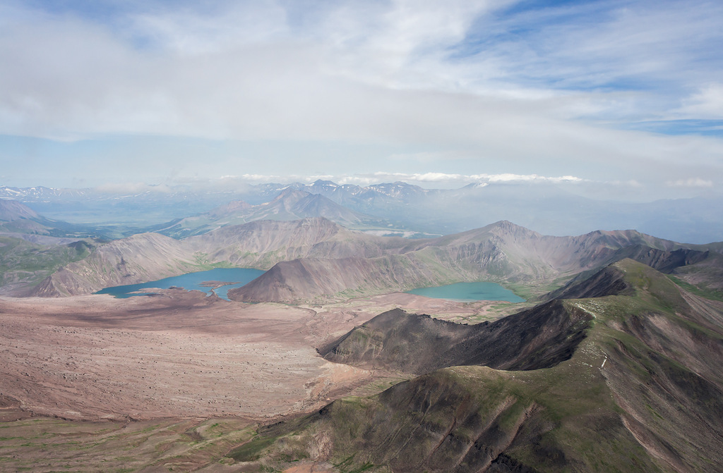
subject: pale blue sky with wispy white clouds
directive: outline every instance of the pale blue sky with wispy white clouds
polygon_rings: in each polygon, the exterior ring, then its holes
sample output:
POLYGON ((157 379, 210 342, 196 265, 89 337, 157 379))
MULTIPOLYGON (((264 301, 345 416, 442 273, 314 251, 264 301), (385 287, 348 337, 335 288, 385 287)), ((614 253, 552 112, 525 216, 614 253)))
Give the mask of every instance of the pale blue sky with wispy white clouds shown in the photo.
POLYGON ((723 2, 0 0, 0 185, 719 195, 723 2))

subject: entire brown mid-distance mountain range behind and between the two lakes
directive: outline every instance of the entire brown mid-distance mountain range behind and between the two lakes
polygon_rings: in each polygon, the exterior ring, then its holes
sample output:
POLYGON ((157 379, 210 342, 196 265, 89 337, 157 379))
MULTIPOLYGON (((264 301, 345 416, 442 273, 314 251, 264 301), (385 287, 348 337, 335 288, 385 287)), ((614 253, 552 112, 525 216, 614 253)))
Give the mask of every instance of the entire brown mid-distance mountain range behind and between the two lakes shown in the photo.
POLYGON ((247 302, 318 303, 478 280, 500 282, 536 298, 578 274, 623 258, 646 261, 683 282, 719 291, 721 249, 720 244, 684 245, 634 230, 545 236, 507 221, 410 240, 348 230, 320 217, 259 220, 184 240, 143 233, 99 244, 84 259, 25 287, 25 293, 82 295, 235 266, 268 270, 228 291, 231 300, 247 302))

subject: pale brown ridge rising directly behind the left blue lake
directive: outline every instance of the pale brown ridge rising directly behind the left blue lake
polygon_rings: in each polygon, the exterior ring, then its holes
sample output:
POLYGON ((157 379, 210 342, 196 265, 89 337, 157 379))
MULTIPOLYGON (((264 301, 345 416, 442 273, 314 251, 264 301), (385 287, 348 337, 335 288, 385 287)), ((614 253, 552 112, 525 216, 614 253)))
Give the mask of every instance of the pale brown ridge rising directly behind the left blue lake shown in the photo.
POLYGON ((259 221, 224 227, 186 240, 144 233, 114 240, 82 261, 51 274, 33 295, 57 297, 136 284, 213 266, 268 269, 301 257, 377 256, 402 238, 377 238, 351 232, 325 219, 259 221))

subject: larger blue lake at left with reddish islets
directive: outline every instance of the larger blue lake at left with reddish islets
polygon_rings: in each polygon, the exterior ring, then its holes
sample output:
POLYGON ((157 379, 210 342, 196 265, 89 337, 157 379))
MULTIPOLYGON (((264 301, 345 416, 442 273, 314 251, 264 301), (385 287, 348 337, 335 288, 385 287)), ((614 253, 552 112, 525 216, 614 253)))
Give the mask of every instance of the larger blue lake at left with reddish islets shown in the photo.
POLYGON ((218 287, 214 292, 218 297, 228 300, 227 292, 234 287, 241 287, 252 282, 257 277, 264 274, 260 269, 251 268, 216 268, 208 271, 199 271, 180 276, 166 277, 158 279, 158 281, 142 282, 140 284, 131 284, 125 286, 106 287, 103 290, 95 292, 95 294, 110 294, 116 298, 129 298, 134 295, 151 295, 153 292, 142 292, 144 289, 170 289, 171 287, 182 287, 184 290, 203 291, 206 294, 211 293, 213 286, 202 285, 204 282, 229 282, 218 287))

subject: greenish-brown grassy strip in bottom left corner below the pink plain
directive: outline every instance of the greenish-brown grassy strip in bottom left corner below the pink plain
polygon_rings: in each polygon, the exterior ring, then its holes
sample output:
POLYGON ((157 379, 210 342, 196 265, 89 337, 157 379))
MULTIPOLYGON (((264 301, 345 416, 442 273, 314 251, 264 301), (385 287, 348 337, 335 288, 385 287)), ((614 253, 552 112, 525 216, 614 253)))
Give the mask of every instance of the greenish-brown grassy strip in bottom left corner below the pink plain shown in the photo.
POLYGON ((234 418, 126 423, 30 417, 0 422, 0 471, 218 471, 228 448, 252 435, 248 421, 234 418))

